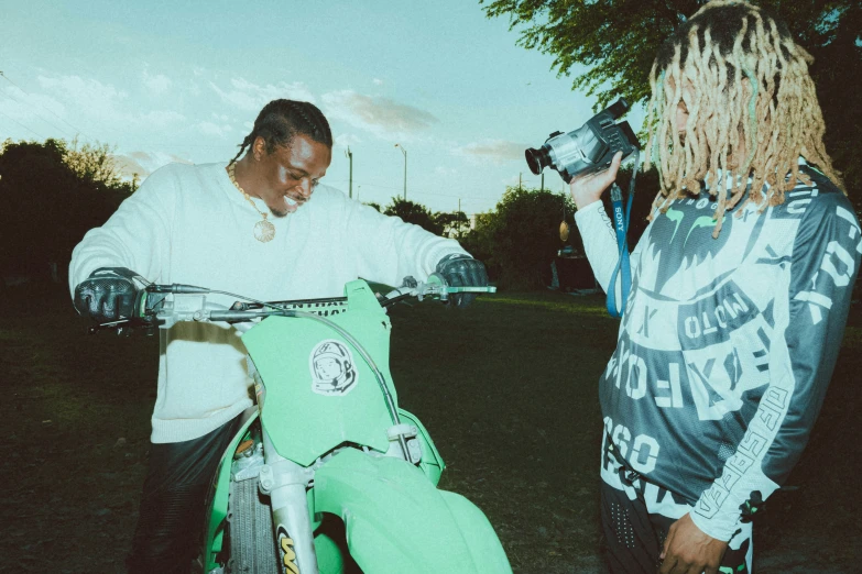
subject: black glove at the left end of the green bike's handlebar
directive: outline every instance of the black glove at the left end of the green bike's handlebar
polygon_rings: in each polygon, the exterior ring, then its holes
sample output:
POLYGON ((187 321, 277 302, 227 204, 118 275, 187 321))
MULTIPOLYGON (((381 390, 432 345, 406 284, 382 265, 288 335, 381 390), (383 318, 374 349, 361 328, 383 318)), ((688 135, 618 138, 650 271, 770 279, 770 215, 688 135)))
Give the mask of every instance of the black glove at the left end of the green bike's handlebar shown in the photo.
POLYGON ((143 277, 126 267, 100 267, 75 287, 75 309, 100 323, 130 318, 143 284, 143 277))

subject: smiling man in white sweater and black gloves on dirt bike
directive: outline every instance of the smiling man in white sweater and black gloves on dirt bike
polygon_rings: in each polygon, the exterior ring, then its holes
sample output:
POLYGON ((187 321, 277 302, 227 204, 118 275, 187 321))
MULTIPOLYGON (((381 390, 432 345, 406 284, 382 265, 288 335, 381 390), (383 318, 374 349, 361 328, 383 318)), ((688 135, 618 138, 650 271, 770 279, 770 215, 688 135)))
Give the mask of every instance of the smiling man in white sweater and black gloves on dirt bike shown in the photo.
MULTIPOLYGON (((320 110, 275 100, 232 161, 156 170, 75 249, 76 309, 99 321, 129 317, 146 280, 269 301, 341 296, 357 277, 400 285, 439 272, 454 285, 488 284, 484 266, 456 241, 319 185, 331 148, 320 110)), ((152 448, 127 559, 133 573, 189 571, 208 487, 252 406, 245 351, 232 329, 181 322, 160 335, 152 448)))

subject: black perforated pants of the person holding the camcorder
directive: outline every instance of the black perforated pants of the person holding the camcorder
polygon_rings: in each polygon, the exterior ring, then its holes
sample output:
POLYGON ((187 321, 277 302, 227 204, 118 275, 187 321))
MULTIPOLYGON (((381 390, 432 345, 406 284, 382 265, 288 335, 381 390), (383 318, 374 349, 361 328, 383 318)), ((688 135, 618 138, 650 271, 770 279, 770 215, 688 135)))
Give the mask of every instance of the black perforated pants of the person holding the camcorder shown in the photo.
MULTIPOLYGON (((658 497, 673 496, 661 489, 658 497)), ((624 490, 601 483, 601 523, 607 544, 607 562, 613 574, 655 574, 667 531, 676 518, 650 511, 643 495, 631 499, 624 490)), ((736 545, 736 544, 733 544, 736 545)), ((751 538, 735 550, 728 547, 721 573, 751 574, 746 556, 751 538)))

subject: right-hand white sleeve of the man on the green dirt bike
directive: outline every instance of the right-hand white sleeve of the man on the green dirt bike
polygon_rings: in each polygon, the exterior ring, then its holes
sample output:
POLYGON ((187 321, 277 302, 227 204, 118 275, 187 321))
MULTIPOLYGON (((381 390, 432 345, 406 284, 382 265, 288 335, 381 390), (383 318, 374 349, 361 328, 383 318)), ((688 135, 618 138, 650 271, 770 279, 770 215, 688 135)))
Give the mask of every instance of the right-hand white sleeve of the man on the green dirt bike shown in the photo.
POLYGON ((401 218, 348 200, 345 233, 363 278, 401 285, 411 275, 425 280, 446 255, 469 255, 460 244, 435 235, 401 218))

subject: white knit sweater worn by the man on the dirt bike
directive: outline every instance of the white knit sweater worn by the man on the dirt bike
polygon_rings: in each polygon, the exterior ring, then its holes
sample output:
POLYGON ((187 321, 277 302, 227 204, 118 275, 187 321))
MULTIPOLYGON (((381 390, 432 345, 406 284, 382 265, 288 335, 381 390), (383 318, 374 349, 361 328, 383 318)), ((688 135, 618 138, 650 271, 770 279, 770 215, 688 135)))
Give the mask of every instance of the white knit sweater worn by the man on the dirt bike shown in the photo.
MULTIPOLYGON (((69 288, 99 267, 128 267, 153 283, 220 289, 259 300, 339 297, 362 277, 423 280, 456 241, 348 199, 320 185, 275 238, 254 239, 262 218, 233 187, 226 163, 171 164, 153 173, 101 228, 75 247, 69 288)), ((254 199, 261 211, 263 201, 254 199)), ((230 305, 232 297, 209 296, 230 305)), ((234 330, 178 323, 161 330, 154 443, 201 437, 252 405, 245 350, 234 330)))

